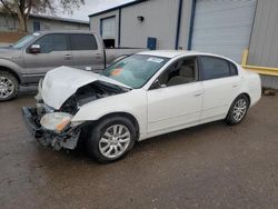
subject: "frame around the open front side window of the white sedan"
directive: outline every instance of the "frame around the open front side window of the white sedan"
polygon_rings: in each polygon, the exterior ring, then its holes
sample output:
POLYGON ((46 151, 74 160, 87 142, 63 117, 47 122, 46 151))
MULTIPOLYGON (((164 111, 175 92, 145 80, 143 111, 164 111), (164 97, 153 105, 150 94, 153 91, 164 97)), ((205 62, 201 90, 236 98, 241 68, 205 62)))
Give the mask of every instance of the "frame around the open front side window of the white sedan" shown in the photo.
POLYGON ((196 61, 196 68, 197 68, 196 71, 195 71, 196 80, 192 81, 192 82, 187 82, 187 83, 182 83, 182 84, 175 84, 175 86, 165 87, 165 88, 178 87, 178 86, 190 84, 190 83, 196 83, 196 82, 201 81, 201 80, 200 80, 200 70, 199 70, 198 56, 185 56, 185 57, 178 58, 177 60, 173 60, 171 63, 169 63, 169 66, 156 77, 156 79, 153 80, 153 82, 152 82, 152 83, 150 84, 150 87, 148 88, 148 91, 149 91, 149 90, 165 89, 163 87, 155 88, 155 89, 153 89, 152 86, 155 84, 155 82, 157 81, 157 79, 158 79, 163 72, 166 72, 169 68, 172 67, 173 63, 179 62, 180 60, 190 59, 190 58, 195 58, 195 59, 196 59, 196 60, 195 60, 195 61, 196 61))

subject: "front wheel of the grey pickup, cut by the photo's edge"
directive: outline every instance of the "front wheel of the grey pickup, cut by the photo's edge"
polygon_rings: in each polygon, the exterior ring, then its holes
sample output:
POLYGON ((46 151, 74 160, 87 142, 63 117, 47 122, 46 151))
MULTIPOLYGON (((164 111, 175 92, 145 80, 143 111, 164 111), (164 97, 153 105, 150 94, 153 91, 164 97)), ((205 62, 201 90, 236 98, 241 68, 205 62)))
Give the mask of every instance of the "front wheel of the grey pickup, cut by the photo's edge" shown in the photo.
POLYGON ((6 71, 0 71, 0 101, 8 101, 17 97, 19 82, 16 77, 6 71))

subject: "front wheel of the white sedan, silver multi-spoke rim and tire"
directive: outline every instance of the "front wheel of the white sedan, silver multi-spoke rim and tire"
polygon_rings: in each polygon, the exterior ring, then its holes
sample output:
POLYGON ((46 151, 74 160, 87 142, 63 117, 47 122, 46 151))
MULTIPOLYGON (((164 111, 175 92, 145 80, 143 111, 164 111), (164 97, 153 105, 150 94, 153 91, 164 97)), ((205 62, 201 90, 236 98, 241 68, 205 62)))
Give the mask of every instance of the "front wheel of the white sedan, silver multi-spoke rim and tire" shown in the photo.
POLYGON ((92 129, 87 149, 98 162, 107 163, 122 158, 136 141, 133 123, 120 116, 106 118, 92 129))

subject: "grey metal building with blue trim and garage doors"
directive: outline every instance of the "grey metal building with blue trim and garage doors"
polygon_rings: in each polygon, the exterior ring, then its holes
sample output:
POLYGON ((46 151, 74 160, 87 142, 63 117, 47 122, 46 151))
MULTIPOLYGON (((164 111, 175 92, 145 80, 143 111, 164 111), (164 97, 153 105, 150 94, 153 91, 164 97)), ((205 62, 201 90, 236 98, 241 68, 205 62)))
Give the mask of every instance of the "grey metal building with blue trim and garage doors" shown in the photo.
MULTIPOLYGON (((137 0, 90 16, 108 47, 214 52, 240 62, 278 68, 278 1, 137 0)), ((278 70, 278 69, 277 69, 278 70)), ((278 88, 275 77, 265 86, 278 88)))

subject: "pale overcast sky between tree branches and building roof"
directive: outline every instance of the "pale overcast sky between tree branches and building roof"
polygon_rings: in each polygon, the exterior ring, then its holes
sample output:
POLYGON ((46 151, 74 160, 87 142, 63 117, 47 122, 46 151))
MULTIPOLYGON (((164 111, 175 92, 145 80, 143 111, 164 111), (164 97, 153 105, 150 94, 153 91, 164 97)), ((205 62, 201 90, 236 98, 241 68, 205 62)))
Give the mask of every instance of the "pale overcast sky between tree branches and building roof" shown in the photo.
POLYGON ((93 12, 109 9, 130 1, 133 0, 85 0, 85 6, 81 6, 79 10, 75 10, 72 16, 62 14, 61 17, 89 21, 88 16, 93 12))

